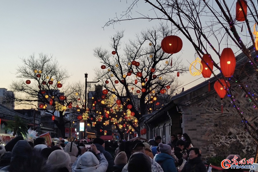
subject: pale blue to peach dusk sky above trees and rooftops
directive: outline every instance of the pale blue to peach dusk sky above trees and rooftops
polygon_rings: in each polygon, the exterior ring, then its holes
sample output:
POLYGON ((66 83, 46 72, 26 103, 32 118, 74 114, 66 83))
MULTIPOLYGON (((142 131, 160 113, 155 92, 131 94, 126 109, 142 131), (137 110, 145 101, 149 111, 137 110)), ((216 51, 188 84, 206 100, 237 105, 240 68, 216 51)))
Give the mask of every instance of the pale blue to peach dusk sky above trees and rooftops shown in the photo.
MULTIPOLYGON (((128 1, 129 2, 129 1, 128 1)), ((93 80, 94 67, 101 63, 93 56, 93 49, 99 46, 109 47, 110 36, 116 30, 125 30, 124 41, 134 38, 136 32, 158 25, 159 20, 123 21, 120 24, 103 26, 109 18, 120 15, 128 7, 126 1, 97 0, 97 1, 1 1, 0 2, 0 59, 1 59, 1 88, 9 89, 15 80, 16 68, 21 64, 21 57, 35 53, 53 54, 58 62, 72 74, 69 82, 84 82, 87 72, 88 81, 93 80)), ((139 3, 138 11, 148 11, 146 3, 139 3), (144 6, 145 5, 145 6, 144 6)), ((180 36, 180 35, 179 35, 180 36)), ((189 66, 194 60, 194 50, 189 42, 183 40, 183 62, 189 66)), ((216 71, 216 74, 218 71, 216 71)), ((183 85, 201 78, 192 77, 189 73, 180 76, 183 85)), ((187 86, 189 89, 204 78, 187 86)))

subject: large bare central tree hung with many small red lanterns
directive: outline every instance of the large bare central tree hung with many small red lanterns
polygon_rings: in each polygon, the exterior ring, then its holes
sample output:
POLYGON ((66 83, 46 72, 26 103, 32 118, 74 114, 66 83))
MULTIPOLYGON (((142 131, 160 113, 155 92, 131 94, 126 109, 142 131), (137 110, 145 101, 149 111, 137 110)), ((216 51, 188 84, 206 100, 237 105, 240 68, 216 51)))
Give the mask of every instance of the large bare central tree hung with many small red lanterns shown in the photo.
POLYGON ((119 129, 136 130, 142 115, 161 108, 180 85, 176 75, 185 73, 187 67, 179 56, 161 49, 161 40, 169 33, 168 26, 161 24, 143 30, 122 47, 124 31, 120 31, 111 39, 112 52, 94 49, 103 64, 101 69, 95 69, 96 80, 105 87, 103 94, 112 98, 101 102, 109 107, 105 113, 113 114, 107 115, 108 121, 119 129))

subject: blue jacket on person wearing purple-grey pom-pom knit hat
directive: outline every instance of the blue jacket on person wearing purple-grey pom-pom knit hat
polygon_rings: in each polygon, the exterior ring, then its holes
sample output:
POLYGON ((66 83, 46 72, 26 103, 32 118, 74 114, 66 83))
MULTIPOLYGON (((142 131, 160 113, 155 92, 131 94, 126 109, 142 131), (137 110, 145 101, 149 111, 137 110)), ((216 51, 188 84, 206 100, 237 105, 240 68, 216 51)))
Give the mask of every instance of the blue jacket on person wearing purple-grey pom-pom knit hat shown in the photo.
POLYGON ((155 161, 161 165, 164 172, 177 172, 175 159, 166 153, 156 155, 155 161))

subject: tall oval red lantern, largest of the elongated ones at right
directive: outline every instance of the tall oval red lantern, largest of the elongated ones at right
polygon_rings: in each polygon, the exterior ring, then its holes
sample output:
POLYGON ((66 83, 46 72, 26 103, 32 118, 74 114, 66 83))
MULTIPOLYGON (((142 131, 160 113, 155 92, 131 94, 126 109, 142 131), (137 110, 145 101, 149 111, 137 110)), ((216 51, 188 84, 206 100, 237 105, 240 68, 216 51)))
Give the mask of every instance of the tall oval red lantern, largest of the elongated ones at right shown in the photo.
POLYGON ((236 68, 236 57, 231 48, 224 48, 220 55, 220 68, 225 77, 231 77, 236 68))

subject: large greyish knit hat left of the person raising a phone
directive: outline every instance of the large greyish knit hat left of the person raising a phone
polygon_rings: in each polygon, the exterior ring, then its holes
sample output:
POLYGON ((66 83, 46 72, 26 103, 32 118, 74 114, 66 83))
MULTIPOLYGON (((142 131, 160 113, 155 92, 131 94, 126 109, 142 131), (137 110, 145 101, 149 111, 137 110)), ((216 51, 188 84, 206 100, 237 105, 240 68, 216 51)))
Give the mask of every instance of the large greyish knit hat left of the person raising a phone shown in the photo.
POLYGON ((59 169, 62 167, 69 169, 70 163, 71 159, 67 153, 62 150, 54 150, 52 153, 50 153, 46 165, 52 169, 59 169))

